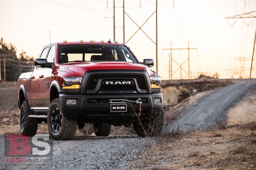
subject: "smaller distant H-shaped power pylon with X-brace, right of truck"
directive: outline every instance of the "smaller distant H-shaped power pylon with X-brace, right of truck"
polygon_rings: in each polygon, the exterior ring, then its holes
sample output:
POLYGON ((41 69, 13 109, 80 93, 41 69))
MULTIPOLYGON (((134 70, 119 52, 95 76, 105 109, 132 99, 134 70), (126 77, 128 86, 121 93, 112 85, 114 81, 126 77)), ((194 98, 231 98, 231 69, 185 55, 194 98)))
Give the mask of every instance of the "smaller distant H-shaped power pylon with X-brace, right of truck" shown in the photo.
POLYGON ((192 75, 190 75, 190 63, 189 63, 189 50, 191 49, 197 49, 197 48, 189 48, 189 42, 188 42, 188 48, 172 48, 172 42, 171 42, 171 48, 163 48, 163 50, 170 50, 170 56, 169 56, 169 79, 172 80, 172 76, 178 71, 180 70, 180 78, 182 79, 182 71, 185 72, 186 74, 188 74, 188 79, 191 78, 192 75), (183 61, 181 64, 179 64, 176 60, 173 59, 172 57, 172 51, 173 50, 188 50, 188 58, 183 61), (183 68, 183 65, 188 61, 188 71, 186 71, 186 69, 183 68), (172 69, 172 63, 175 63, 176 65, 178 65, 178 69, 175 70, 173 72, 172 69))

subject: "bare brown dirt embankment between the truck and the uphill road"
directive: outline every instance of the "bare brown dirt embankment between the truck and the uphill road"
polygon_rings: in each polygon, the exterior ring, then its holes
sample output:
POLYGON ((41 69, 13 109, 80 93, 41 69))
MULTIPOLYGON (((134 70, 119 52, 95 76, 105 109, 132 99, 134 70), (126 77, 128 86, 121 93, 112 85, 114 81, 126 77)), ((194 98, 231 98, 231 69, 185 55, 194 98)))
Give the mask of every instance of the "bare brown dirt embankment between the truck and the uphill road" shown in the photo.
POLYGON ((178 119, 184 110, 196 106, 198 100, 212 93, 212 90, 232 84, 231 80, 216 78, 197 78, 193 80, 165 80, 163 87, 163 106, 167 122, 178 119))

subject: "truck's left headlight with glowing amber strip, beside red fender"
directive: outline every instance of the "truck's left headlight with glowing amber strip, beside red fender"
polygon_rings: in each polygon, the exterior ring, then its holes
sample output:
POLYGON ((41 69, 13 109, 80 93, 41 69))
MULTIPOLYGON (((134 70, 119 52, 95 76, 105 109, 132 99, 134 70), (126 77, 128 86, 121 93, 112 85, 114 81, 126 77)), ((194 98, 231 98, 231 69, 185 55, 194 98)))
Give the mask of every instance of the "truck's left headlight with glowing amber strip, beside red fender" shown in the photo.
POLYGON ((80 89, 83 77, 65 77, 61 89, 80 89))

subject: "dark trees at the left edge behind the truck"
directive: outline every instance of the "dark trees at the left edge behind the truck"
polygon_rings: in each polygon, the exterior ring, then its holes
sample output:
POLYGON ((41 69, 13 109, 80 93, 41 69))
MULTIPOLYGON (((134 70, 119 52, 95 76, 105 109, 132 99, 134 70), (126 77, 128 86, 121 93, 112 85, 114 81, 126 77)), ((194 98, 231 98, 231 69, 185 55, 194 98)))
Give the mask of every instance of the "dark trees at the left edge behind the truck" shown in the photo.
POLYGON ((0 39, 1 80, 4 80, 4 58, 6 81, 17 81, 21 73, 34 70, 34 59, 22 51, 17 55, 16 46, 0 39))

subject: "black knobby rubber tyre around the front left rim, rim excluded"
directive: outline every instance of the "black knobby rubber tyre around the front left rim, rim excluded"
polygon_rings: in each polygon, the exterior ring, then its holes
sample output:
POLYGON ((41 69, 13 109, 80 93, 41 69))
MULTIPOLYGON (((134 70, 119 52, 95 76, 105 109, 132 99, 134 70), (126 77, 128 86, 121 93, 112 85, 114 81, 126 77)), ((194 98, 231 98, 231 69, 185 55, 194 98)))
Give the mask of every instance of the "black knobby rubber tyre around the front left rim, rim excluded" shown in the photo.
MULTIPOLYGON (((77 119, 74 118, 66 118, 62 111, 61 111, 61 103, 59 102, 59 98, 52 100, 48 116, 47 116, 47 122, 48 122, 48 129, 50 132, 50 135, 55 140, 69 140, 75 136, 75 133, 77 131, 77 119), (62 114, 62 125, 61 130, 57 135, 55 135, 56 132, 53 131, 51 121, 50 121, 50 112, 52 112, 52 108, 57 105, 59 108, 61 114, 62 114)), ((56 107, 55 107, 56 108, 56 107)))

